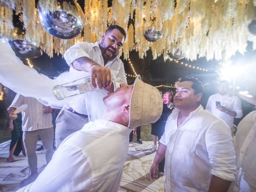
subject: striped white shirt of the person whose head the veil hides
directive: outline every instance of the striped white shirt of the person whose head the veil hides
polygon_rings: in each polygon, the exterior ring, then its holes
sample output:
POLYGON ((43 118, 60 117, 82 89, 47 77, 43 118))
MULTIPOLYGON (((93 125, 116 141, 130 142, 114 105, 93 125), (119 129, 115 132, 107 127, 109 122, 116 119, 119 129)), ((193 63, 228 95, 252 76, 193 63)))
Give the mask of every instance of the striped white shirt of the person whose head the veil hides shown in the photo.
POLYGON ((52 128, 52 114, 44 113, 44 105, 32 97, 16 94, 10 107, 18 108, 27 104, 28 108, 22 111, 22 131, 35 131, 38 129, 52 128))

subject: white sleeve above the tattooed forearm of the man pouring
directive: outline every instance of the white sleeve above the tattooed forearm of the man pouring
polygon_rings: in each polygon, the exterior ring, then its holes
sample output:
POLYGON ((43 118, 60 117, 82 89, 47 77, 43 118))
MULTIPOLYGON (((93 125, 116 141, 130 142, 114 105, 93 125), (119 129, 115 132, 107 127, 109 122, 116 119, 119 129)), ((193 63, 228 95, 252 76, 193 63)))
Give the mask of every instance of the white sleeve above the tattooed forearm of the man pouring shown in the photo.
POLYGON ((81 57, 89 57, 87 54, 90 45, 87 42, 79 42, 68 48, 64 53, 64 59, 67 64, 72 67, 72 62, 81 57))

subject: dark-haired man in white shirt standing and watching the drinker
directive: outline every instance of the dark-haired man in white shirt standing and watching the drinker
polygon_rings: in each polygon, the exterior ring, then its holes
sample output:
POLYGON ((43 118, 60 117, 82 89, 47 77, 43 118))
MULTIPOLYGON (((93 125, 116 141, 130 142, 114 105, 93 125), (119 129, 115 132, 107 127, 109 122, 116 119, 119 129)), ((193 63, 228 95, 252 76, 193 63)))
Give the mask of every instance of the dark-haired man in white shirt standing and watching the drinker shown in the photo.
POLYGON ((165 156, 165 191, 226 192, 235 179, 230 128, 203 109, 202 92, 202 82, 197 79, 186 77, 178 82, 176 109, 168 117, 150 168, 150 178, 155 179, 165 156))

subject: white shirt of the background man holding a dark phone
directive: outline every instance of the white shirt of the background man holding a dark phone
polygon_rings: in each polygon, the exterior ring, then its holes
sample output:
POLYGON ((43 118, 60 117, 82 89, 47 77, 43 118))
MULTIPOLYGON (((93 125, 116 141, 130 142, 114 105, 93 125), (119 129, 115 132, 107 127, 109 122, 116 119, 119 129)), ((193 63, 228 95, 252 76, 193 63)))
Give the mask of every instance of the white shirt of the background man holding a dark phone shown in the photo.
POLYGON ((234 125, 234 117, 218 110, 216 108, 216 101, 220 101, 220 105, 224 106, 227 110, 235 111, 236 118, 241 118, 243 116, 241 100, 236 96, 229 96, 228 94, 221 96, 217 93, 209 97, 205 108, 207 111, 224 120, 228 126, 232 128, 234 125))

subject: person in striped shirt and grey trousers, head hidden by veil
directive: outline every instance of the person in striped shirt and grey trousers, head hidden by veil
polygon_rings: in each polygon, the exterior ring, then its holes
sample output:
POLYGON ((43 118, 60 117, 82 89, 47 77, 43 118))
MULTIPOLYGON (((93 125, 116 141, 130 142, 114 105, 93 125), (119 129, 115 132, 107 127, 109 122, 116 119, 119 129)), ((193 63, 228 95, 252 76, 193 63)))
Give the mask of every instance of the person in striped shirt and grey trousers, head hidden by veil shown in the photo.
POLYGON ((23 187, 36 180, 38 176, 36 143, 39 137, 46 150, 46 163, 48 164, 52 159, 54 133, 51 114, 52 108, 44 106, 35 98, 16 94, 8 109, 10 119, 14 120, 18 117, 14 114, 14 111, 16 108, 22 106, 22 104, 28 105, 28 108, 22 112, 22 131, 24 147, 30 168, 30 176, 20 183, 20 186, 23 187))

